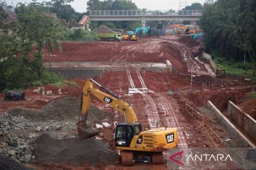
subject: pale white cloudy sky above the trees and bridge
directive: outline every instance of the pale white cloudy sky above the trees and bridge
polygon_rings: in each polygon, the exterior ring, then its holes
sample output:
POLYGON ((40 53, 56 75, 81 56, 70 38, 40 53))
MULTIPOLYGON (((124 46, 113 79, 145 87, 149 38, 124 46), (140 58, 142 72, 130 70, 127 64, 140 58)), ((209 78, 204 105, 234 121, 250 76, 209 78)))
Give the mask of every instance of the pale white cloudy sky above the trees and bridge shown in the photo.
MULTIPOLYGON (((0 0, 4 1, 4 0, 0 0)), ((27 2, 30 3, 32 0, 5 0, 7 4, 13 4, 16 6, 18 2, 27 2)), ((43 0, 38 0, 38 1, 43 1, 43 0)), ((45 1, 50 1, 50 0, 45 0, 45 1)), ((206 0, 132 0, 137 4, 139 8, 147 8, 149 10, 169 10, 169 9, 174 9, 178 10, 179 8, 179 1, 183 2, 181 3, 182 6, 185 6, 185 2, 187 1, 187 5, 191 5, 192 3, 199 2, 203 4, 206 0)), ((73 8, 75 8, 75 11, 78 12, 85 12, 87 11, 87 0, 75 0, 71 4, 73 8)))

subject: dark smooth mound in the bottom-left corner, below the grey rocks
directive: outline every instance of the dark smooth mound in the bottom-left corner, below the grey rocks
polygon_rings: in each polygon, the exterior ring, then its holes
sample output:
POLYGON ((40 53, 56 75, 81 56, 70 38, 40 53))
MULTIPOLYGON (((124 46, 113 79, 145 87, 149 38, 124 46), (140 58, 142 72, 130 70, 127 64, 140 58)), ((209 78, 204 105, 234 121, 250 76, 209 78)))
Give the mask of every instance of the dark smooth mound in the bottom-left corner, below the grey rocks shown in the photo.
POLYGON ((0 154, 0 169, 3 170, 28 170, 22 164, 16 162, 14 159, 7 157, 5 154, 0 154))

